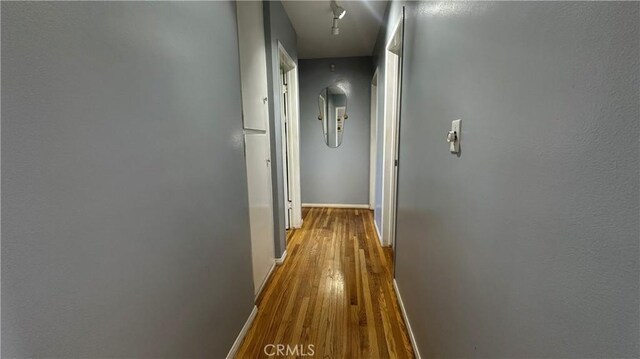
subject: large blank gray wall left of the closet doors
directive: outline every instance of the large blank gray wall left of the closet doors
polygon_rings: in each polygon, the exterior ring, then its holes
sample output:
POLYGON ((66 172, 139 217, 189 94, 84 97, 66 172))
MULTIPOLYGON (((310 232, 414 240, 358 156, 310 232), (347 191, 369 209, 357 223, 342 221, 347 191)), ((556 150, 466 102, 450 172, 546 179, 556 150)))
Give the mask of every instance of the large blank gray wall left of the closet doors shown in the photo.
POLYGON ((230 2, 2 3, 2 356, 226 355, 239 76, 230 2))

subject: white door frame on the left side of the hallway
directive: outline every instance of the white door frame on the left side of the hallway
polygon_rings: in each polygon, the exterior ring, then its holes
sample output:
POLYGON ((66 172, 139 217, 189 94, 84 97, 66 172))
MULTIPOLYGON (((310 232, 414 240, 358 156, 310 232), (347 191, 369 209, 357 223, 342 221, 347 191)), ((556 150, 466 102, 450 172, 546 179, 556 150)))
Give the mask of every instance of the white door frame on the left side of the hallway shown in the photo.
MULTIPOLYGON (((287 81, 287 118, 280 116, 281 139, 282 139, 282 175, 285 179, 284 188, 285 210, 288 211, 287 201, 291 201, 291 228, 302 227, 302 202, 300 190, 300 110, 299 110, 299 87, 298 87, 298 64, 293 61, 287 53, 282 43, 278 41, 278 66, 283 68, 287 81), (285 131, 286 126, 286 131, 285 131), (288 159, 287 157, 288 156, 288 159), (287 198, 287 193, 289 197, 287 198)), ((282 82, 280 81, 280 84, 282 82)), ((282 96, 282 88, 280 96, 282 96)), ((282 103, 282 99, 281 103, 282 103)), ((281 109, 283 110, 283 109, 281 109)), ((288 217, 288 213, 285 213, 288 217)))

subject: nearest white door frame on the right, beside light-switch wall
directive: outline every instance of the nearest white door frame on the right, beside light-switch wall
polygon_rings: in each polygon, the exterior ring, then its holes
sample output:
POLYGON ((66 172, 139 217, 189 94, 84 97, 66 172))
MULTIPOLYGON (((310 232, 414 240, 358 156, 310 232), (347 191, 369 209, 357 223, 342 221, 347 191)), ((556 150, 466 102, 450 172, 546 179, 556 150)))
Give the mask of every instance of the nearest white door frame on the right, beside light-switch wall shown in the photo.
POLYGON ((385 46, 383 184, 382 184, 382 243, 395 251, 398 138, 400 123, 400 95, 402 88, 403 16, 393 27, 385 46))

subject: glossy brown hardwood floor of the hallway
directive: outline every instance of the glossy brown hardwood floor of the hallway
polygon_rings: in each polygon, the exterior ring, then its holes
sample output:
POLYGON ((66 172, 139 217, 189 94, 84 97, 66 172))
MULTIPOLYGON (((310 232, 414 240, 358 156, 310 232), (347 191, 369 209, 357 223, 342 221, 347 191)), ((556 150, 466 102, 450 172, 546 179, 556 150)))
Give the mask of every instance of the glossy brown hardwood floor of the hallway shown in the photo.
POLYGON ((236 357, 413 358, 372 212, 304 208, 303 218, 236 357))

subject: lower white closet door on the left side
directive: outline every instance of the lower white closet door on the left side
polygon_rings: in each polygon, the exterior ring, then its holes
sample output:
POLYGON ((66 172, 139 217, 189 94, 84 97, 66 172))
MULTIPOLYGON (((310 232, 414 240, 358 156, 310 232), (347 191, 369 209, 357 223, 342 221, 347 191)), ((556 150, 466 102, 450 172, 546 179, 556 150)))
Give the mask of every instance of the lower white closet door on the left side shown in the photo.
POLYGON ((273 208, 271 206, 271 174, 268 141, 265 133, 244 135, 249 185, 249 218, 253 282, 257 294, 274 262, 273 208))

